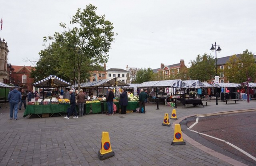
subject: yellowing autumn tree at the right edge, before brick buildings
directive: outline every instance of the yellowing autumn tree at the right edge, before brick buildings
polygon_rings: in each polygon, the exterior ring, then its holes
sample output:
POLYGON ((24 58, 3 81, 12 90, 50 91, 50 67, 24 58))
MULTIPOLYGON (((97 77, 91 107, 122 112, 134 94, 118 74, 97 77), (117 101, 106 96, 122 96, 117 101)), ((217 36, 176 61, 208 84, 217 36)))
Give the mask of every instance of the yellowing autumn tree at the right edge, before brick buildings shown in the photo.
POLYGON ((256 63, 253 53, 246 49, 239 57, 236 55, 230 57, 224 73, 231 82, 245 82, 248 77, 255 80, 256 63))

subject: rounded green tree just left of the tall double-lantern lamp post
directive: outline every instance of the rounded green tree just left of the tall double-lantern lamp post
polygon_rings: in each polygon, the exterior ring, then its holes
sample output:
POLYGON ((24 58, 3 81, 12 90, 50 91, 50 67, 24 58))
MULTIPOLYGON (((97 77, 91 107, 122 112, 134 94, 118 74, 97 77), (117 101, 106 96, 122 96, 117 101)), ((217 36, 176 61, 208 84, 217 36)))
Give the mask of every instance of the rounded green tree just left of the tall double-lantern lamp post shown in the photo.
POLYGON ((189 64, 191 67, 188 69, 188 76, 192 80, 208 81, 215 75, 215 58, 211 54, 199 54, 189 64))

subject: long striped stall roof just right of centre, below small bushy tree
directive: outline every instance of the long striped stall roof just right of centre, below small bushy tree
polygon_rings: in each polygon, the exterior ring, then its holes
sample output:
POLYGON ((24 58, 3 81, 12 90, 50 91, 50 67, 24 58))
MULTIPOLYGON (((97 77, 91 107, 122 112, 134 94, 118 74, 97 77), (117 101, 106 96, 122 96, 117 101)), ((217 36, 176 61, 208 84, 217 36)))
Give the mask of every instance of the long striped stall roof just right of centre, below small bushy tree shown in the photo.
POLYGON ((139 87, 173 87, 173 88, 189 88, 182 80, 163 80, 143 82, 139 87))

